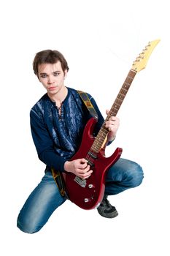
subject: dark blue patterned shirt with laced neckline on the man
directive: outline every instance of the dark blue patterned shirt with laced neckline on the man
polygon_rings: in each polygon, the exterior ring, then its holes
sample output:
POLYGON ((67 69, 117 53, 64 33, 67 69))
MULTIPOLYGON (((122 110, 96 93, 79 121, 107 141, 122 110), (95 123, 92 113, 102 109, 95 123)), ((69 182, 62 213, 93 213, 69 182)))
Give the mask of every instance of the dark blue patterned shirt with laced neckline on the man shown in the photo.
MULTIPOLYGON (((88 109, 76 90, 67 88, 68 94, 62 102, 61 115, 55 102, 45 94, 31 108, 31 134, 39 159, 55 170, 63 171, 64 163, 71 159, 80 147, 85 124, 91 118, 88 109)), ((93 97, 88 97, 98 113, 94 129, 97 135, 104 122, 93 97)))

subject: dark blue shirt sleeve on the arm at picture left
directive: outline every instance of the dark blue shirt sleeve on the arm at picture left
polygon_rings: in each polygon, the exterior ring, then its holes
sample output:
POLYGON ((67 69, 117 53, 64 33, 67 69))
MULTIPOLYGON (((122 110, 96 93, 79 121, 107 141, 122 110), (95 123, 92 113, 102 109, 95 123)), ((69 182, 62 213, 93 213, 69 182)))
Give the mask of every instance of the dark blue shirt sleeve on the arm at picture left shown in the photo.
POLYGON ((63 165, 66 159, 58 156, 53 148, 53 140, 47 131, 46 125, 42 116, 31 110, 30 112, 31 122, 31 135, 36 146, 36 151, 39 159, 45 163, 48 167, 53 167, 55 170, 63 171, 63 165))

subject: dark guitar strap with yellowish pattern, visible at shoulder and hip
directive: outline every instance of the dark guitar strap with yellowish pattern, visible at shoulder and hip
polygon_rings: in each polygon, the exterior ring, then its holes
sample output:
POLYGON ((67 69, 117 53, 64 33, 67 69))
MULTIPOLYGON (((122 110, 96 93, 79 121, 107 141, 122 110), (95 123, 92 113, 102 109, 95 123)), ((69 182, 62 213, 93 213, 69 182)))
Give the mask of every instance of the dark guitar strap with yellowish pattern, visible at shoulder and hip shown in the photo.
MULTIPOLYGON (((98 114, 96 113, 96 110, 94 109, 92 103, 90 102, 90 99, 88 98, 88 94, 86 94, 83 91, 77 91, 77 92, 80 95, 80 98, 82 99, 82 101, 85 103, 85 106, 88 108, 90 115, 98 119, 98 114)), ((59 170, 55 170, 53 167, 51 168, 51 172, 55 180, 55 184, 57 184, 61 195, 68 197, 68 195, 66 195, 66 187, 65 187, 65 183, 63 180, 63 176, 61 175, 61 172, 59 170)))

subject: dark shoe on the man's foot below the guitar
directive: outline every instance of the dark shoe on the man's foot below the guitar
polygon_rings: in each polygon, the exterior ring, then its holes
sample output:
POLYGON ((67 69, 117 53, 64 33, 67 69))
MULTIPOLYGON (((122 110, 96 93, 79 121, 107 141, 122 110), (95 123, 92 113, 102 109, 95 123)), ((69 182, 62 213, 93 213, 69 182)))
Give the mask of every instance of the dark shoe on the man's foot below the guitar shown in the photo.
POLYGON ((112 206, 107 200, 107 195, 104 195, 104 198, 101 201, 100 206, 98 206, 97 210, 98 214, 106 218, 115 218, 118 215, 115 206, 112 206))

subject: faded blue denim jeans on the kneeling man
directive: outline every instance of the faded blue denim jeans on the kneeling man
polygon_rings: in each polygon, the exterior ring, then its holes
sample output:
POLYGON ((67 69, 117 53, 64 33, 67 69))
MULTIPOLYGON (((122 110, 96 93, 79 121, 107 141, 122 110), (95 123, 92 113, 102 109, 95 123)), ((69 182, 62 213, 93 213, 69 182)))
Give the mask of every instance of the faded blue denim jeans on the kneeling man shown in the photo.
MULTIPOLYGON (((107 173, 106 195, 117 195, 125 189, 142 183, 143 171, 136 162, 120 158, 107 173)), ((53 211, 66 201, 55 184, 52 173, 47 171, 42 181, 31 192, 18 215, 18 227, 26 233, 38 232, 50 218, 53 211)))

